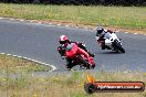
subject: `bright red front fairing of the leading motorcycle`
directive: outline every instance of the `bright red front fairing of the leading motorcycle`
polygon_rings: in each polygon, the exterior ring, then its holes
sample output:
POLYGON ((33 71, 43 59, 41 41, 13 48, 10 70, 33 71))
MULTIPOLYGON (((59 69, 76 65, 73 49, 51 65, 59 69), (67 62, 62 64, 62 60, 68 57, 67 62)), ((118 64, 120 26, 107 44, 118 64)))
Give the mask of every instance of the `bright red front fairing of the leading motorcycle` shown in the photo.
POLYGON ((70 51, 66 51, 65 54, 67 57, 73 57, 73 55, 75 55, 77 53, 77 48, 79 46, 73 43, 73 47, 70 51))

